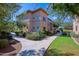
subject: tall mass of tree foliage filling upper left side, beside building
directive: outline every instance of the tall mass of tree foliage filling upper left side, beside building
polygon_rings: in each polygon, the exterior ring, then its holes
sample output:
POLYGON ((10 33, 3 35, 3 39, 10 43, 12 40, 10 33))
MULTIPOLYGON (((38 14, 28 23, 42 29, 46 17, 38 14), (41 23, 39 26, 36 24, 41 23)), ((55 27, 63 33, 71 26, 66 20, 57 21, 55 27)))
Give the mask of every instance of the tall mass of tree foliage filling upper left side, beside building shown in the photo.
POLYGON ((18 29, 17 25, 13 21, 9 21, 13 18, 13 14, 20 9, 18 4, 0 4, 0 32, 6 31, 11 32, 18 29))

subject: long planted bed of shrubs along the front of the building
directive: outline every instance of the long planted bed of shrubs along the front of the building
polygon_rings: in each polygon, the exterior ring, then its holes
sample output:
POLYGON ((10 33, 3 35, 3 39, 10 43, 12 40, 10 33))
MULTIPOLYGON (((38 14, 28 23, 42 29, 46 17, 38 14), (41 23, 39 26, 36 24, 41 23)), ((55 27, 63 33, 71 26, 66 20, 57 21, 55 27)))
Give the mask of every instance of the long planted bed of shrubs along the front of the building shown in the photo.
POLYGON ((52 36, 54 33, 48 32, 48 31, 43 31, 43 32, 31 32, 26 34, 26 38, 30 40, 42 40, 43 38, 47 36, 52 36))

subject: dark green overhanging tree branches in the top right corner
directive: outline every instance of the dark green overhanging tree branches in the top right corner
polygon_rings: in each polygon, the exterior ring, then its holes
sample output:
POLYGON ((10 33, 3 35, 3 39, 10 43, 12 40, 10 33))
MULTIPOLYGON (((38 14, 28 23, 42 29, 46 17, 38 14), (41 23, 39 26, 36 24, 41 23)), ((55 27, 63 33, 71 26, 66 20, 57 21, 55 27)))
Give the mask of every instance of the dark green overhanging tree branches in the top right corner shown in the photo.
MULTIPOLYGON (((79 16, 79 4, 76 3, 53 3, 49 4, 49 7, 63 16, 79 16)), ((49 7, 48 9, 50 9, 49 7)))

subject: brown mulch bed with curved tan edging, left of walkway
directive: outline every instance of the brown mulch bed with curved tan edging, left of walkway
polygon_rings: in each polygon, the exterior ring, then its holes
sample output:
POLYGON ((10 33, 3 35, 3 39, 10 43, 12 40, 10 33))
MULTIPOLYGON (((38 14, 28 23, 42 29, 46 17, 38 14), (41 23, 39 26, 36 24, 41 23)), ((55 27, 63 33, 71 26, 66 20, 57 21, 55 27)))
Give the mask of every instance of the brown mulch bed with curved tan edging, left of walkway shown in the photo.
POLYGON ((16 41, 15 44, 10 44, 5 49, 0 49, 1 56, 15 56, 21 49, 21 43, 16 41))

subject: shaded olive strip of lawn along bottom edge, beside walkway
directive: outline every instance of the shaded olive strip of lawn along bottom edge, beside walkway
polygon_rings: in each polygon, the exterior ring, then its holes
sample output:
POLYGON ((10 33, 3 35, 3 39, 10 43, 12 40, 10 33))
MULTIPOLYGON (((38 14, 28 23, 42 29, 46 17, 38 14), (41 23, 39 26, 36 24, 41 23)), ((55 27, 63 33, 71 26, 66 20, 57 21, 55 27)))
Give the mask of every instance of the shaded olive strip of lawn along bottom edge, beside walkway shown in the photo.
POLYGON ((73 56, 73 53, 62 53, 60 50, 57 49, 49 49, 45 52, 44 56, 73 56))

